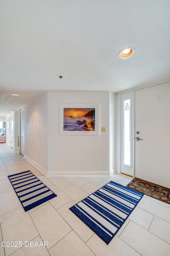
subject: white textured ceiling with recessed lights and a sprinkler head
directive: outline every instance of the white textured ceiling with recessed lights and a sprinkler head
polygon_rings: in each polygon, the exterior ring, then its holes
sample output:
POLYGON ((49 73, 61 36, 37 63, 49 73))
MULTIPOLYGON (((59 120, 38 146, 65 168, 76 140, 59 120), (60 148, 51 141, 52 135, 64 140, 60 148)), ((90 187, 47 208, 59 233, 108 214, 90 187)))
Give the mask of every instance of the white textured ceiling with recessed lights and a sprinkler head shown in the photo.
POLYGON ((170 79, 169 13, 169 0, 1 0, 0 112, 46 90, 120 92, 170 79), (127 47, 133 56, 118 57, 127 47))

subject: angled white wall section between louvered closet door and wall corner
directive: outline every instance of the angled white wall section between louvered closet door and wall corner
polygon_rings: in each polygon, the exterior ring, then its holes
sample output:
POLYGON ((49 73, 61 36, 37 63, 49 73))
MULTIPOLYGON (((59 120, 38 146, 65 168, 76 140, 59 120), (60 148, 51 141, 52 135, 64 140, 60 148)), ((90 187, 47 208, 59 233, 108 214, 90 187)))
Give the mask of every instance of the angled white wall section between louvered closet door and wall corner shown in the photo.
POLYGON ((25 147, 24 158, 47 174, 47 92, 24 106, 25 110, 25 147))

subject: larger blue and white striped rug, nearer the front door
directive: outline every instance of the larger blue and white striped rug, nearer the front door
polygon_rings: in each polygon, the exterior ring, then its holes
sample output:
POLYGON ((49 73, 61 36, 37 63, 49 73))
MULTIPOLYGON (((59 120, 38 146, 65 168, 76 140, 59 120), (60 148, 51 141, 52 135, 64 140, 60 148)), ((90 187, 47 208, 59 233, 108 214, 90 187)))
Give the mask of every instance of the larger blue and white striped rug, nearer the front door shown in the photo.
POLYGON ((142 196, 141 192, 110 181, 70 210, 108 244, 142 196))

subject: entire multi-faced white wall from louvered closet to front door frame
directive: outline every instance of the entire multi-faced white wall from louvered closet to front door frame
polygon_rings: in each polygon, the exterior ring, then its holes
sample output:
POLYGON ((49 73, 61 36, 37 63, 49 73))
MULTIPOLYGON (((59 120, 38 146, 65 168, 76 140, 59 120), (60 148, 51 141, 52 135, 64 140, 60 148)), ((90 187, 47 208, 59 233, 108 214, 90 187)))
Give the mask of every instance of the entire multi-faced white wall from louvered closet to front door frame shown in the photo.
POLYGON ((115 101, 108 91, 48 91, 29 102, 24 106, 24 158, 47 176, 112 175, 115 101), (60 135, 60 104, 97 104, 99 135, 60 135))

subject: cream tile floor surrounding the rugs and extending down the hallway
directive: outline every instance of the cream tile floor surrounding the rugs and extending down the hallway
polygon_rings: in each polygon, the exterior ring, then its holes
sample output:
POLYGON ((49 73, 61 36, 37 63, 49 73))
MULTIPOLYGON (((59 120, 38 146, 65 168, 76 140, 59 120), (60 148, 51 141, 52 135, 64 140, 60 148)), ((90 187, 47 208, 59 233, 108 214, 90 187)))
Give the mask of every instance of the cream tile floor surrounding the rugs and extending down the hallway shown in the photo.
POLYGON ((107 245, 79 220, 69 207, 109 181, 127 185, 129 177, 46 178, 5 143, 0 144, 0 242, 17 241, 22 247, 0 246, 1 256, 169 256, 170 205, 143 196, 116 236, 107 245), (7 176, 31 170, 57 197, 25 212, 7 176), (32 241, 28 246, 24 241, 32 241), (48 242, 48 247, 44 245, 48 242), (37 243, 35 243, 37 242, 37 243), (40 246, 36 246, 40 244, 40 246), (5 249, 5 250, 4 250, 5 249))

